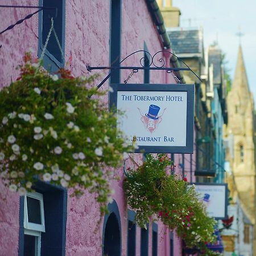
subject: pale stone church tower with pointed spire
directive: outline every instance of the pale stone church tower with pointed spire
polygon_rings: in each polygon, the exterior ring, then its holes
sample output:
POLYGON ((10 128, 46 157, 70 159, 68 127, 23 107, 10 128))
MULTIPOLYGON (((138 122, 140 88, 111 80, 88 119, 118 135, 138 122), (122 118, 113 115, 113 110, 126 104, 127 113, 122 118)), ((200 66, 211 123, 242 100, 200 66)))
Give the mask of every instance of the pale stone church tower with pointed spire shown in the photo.
MULTIPOLYGON (((249 89, 241 46, 238 49, 232 88, 228 94, 228 133, 233 134, 234 138, 234 154, 229 160, 238 195, 244 212, 255 224, 254 102, 249 89)), ((254 234, 256 234, 255 225, 254 234)), ((254 251, 255 238, 254 235, 254 251)))

